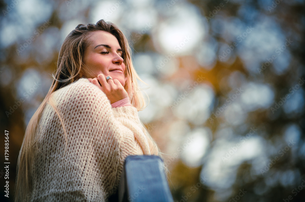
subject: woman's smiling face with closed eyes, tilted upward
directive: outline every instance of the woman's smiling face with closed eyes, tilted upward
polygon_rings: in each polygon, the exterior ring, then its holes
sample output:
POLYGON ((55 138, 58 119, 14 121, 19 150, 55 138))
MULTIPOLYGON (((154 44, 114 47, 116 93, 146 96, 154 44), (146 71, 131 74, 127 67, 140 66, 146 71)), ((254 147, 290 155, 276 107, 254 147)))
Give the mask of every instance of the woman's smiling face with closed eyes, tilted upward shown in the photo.
POLYGON ((123 52, 117 38, 106 31, 94 31, 88 38, 88 47, 84 52, 83 62, 93 72, 87 78, 95 78, 100 73, 119 80, 125 85, 125 64, 123 52))

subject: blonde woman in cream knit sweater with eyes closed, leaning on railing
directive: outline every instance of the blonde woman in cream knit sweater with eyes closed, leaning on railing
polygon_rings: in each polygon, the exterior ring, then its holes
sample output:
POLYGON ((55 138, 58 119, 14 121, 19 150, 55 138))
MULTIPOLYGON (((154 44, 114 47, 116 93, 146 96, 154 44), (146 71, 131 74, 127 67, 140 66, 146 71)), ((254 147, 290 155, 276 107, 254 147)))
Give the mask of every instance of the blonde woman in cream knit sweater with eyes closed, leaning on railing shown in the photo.
POLYGON ((104 20, 79 24, 53 77, 25 132, 15 201, 107 201, 127 155, 160 155, 138 117, 145 102, 126 37, 104 20))

